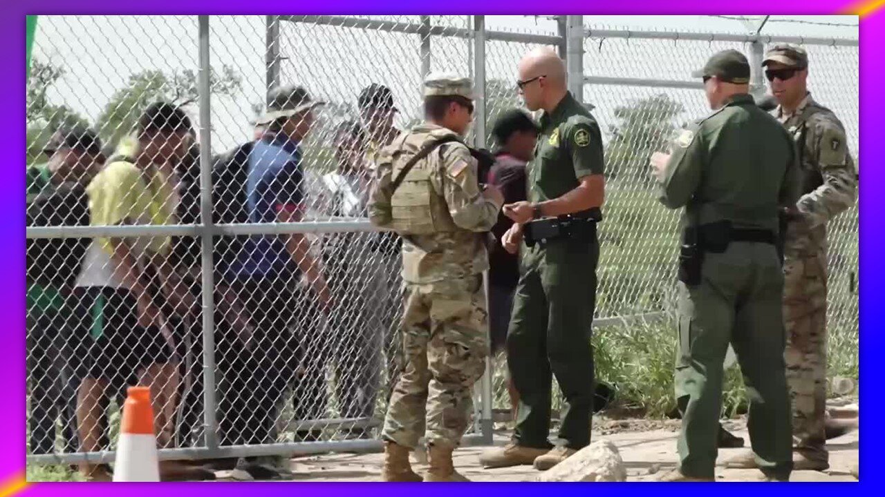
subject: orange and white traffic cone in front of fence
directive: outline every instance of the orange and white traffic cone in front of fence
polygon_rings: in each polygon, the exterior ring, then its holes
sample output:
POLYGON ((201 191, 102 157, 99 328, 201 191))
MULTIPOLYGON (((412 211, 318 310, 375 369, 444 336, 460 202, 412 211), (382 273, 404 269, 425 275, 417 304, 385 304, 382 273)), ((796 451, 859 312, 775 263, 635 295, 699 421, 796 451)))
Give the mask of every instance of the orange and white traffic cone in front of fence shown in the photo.
POLYGON ((119 427, 113 481, 160 481, 150 388, 130 386, 119 427))

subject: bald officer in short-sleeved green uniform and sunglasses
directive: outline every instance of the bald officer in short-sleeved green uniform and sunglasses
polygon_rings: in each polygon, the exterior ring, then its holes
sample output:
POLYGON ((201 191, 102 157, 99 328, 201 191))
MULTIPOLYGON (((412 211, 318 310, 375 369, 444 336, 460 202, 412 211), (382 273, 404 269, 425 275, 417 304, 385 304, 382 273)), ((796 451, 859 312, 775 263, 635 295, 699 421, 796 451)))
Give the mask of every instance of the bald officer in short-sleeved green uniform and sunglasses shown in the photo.
POLYGON ((519 393, 512 443, 481 456, 485 467, 534 464, 547 470, 590 441, 594 370, 590 345, 604 198, 603 146, 596 120, 566 88, 566 67, 549 49, 519 62, 519 93, 543 109, 535 157, 527 166, 528 202, 504 206, 514 222, 504 247, 524 233, 507 364, 519 393), (568 223, 568 229, 558 223, 568 223), (529 245, 528 243, 531 243, 529 245), (550 394, 556 375, 566 397, 558 440, 550 448, 550 394))

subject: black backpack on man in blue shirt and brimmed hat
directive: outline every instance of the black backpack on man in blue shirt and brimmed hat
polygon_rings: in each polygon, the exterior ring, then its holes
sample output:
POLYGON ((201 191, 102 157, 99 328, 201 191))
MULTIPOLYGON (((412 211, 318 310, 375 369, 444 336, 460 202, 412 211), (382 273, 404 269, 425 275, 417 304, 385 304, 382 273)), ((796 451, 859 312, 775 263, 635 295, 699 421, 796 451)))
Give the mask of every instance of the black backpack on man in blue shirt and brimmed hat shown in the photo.
MULTIPOLYGON (((254 142, 243 143, 212 157, 212 223, 216 225, 249 222, 246 209, 246 180, 249 155, 254 142)), ((243 248, 245 237, 219 236, 215 241, 215 265, 222 271, 233 264, 243 248)))

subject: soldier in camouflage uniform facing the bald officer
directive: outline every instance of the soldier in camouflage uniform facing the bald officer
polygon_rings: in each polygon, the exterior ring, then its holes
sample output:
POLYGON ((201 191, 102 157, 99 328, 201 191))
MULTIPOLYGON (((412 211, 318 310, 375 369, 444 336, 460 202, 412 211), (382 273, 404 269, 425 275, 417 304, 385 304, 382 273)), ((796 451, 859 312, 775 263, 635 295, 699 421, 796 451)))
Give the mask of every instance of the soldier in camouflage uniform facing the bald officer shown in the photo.
POLYGON ((467 78, 428 76, 427 121, 396 137, 378 161, 369 218, 402 235, 404 279, 405 364, 384 422, 385 481, 421 480, 408 451, 425 434, 424 481, 466 481, 451 453, 489 354, 482 233, 504 203, 495 187, 480 190, 476 162, 461 141, 472 119, 472 86, 467 78))

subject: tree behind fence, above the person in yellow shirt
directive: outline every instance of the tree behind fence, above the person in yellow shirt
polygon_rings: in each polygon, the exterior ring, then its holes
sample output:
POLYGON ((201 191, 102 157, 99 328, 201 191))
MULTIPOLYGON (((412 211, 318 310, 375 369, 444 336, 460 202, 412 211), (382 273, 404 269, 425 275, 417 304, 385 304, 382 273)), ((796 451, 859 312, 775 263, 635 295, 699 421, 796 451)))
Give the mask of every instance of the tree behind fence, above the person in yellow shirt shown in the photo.
MULTIPOLYGON (((242 78, 234 68, 223 66, 209 75, 213 95, 234 96, 242 88, 242 78)), ((129 77, 126 88, 120 88, 111 97, 98 116, 96 127, 105 143, 116 145, 132 132, 142 111, 151 103, 165 101, 179 106, 195 103, 199 97, 196 72, 190 69, 166 74, 147 70, 129 77)))

